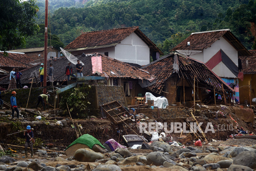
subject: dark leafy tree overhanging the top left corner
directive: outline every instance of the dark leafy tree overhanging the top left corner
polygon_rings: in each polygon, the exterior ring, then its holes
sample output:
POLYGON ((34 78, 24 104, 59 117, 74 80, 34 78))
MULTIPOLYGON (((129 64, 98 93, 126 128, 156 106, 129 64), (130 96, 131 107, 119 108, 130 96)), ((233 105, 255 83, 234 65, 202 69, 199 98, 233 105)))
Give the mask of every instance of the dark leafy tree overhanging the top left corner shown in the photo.
POLYGON ((36 0, 1 0, 0 50, 25 46, 25 38, 39 30, 34 19, 37 11, 36 0))

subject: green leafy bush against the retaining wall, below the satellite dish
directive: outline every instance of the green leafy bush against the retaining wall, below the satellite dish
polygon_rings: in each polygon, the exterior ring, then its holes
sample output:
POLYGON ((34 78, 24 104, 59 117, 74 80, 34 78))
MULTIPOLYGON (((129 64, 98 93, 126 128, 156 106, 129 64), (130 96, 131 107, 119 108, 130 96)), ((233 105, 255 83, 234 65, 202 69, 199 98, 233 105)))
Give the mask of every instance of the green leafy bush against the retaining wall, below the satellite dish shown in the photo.
POLYGON ((88 106, 91 104, 88 99, 90 88, 90 85, 83 85, 65 91, 60 101, 60 108, 64 109, 64 113, 68 113, 69 109, 72 118, 86 118, 88 116, 88 106))

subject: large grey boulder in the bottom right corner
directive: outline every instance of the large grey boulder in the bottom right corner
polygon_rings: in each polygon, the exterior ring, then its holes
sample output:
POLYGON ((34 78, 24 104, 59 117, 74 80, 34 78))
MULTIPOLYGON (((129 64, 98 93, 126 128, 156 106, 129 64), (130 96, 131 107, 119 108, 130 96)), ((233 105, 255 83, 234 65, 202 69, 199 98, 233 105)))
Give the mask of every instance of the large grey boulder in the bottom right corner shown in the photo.
POLYGON ((256 169, 256 153, 252 151, 244 151, 239 153, 233 160, 234 165, 243 165, 256 169))

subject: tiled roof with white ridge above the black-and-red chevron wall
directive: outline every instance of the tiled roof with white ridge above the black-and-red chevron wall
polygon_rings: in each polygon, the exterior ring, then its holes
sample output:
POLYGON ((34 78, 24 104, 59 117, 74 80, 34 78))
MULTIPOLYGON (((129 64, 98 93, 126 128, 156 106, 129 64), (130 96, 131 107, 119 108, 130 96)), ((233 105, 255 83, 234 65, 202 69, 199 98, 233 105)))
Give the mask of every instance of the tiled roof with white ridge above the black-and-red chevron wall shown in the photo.
POLYGON ((205 49, 211 46, 221 36, 223 36, 238 51, 239 56, 250 55, 246 47, 243 46, 243 44, 230 32, 229 29, 192 33, 171 51, 205 49), (188 42, 190 42, 190 46, 188 46, 188 42))

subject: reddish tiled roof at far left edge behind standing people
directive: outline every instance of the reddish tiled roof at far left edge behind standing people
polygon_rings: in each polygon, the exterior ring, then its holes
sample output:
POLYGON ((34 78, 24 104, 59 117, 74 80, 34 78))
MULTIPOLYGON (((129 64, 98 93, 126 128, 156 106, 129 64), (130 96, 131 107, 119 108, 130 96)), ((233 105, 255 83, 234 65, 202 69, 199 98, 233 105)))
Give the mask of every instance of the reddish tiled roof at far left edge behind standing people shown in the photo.
POLYGON ((29 64, 31 61, 33 59, 24 53, 8 52, 8 56, 4 56, 4 53, 0 52, 0 67, 28 68, 31 66, 29 64))

